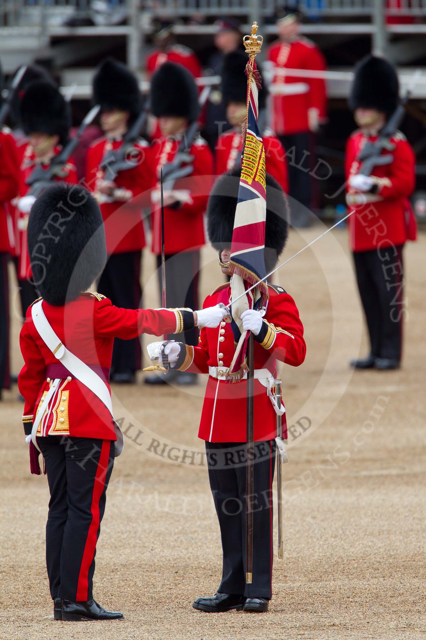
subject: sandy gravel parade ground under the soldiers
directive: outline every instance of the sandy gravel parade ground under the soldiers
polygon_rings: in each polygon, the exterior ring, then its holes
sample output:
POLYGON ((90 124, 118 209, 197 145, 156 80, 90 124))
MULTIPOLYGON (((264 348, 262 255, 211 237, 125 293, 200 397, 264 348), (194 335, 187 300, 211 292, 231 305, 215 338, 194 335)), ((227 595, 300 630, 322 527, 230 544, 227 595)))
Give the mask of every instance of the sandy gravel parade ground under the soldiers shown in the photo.
MULTIPOLYGON (((287 256, 317 232, 293 233, 287 256)), ((197 439, 200 380, 189 391, 114 388, 128 436, 107 492, 95 597, 126 617, 55 622, 44 564, 47 481, 29 474, 15 387, 0 404, 1 639, 426 636, 426 236, 406 251, 404 368, 356 374, 347 360, 366 344, 347 237, 329 236, 279 277, 300 308, 308 355, 283 375, 291 464, 284 468, 286 551, 284 561, 275 557, 270 612, 215 615, 191 607, 197 596, 215 593, 221 566, 197 439)), ((205 250, 203 260, 207 294, 220 276, 213 252, 205 250)), ((147 306, 158 305, 152 267, 146 255, 147 306)), ((14 371, 18 333, 14 317, 14 371)))

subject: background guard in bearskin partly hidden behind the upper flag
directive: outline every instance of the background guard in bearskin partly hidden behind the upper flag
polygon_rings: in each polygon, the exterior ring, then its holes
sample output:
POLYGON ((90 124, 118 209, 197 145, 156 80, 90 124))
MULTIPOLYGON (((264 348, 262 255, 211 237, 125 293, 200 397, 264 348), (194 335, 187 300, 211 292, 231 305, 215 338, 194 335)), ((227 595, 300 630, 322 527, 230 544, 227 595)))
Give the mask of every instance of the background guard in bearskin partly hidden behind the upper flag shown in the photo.
MULTIPOLYGON (((240 163, 243 142, 241 127, 247 111, 247 78, 245 66, 247 54, 244 51, 234 51, 224 57, 222 66, 222 100, 226 108, 226 117, 234 129, 219 136, 215 150, 216 173, 231 170, 236 163, 240 163)), ((261 68, 259 72, 261 72, 261 68)), ((266 88, 259 90, 259 112, 265 108, 266 88)), ((266 171, 277 180, 285 193, 289 191, 287 175, 287 161, 282 144, 277 136, 266 127, 262 133, 265 150, 266 171)))

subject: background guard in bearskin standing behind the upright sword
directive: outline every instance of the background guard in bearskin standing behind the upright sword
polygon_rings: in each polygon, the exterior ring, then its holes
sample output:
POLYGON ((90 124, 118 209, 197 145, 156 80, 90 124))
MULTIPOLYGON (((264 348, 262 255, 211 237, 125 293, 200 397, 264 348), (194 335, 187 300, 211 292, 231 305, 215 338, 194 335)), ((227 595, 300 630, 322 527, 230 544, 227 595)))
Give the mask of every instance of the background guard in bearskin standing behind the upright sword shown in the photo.
MULTIPOLYGON (((199 104, 197 87, 190 73, 171 62, 155 72, 151 79, 151 111, 158 118, 162 138, 153 144, 156 179, 160 170, 171 163, 178 148, 188 154, 181 166, 190 164, 187 177, 177 179, 164 191, 164 248, 166 259, 167 303, 172 307, 185 300, 185 306, 198 306, 198 274, 200 248, 205 243, 204 211, 213 180, 213 156, 205 140, 196 135, 186 145, 188 126, 197 120, 199 104), (189 148, 187 148, 189 147, 189 148)), ((152 195, 153 252, 161 266, 162 234, 159 182, 152 195)), ((172 339, 172 337, 171 337, 172 339)), ((197 332, 188 332, 188 344, 197 344, 197 332)), ((164 383, 165 376, 149 376, 147 383, 164 383)), ((191 384, 194 374, 178 375, 178 384, 191 384)))

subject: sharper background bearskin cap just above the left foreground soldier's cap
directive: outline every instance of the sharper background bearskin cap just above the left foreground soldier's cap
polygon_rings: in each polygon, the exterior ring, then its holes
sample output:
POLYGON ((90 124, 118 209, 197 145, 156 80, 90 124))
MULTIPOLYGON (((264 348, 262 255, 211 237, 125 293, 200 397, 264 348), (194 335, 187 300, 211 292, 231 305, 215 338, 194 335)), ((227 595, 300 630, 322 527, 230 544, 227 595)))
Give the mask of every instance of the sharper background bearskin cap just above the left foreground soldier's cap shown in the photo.
POLYGON ((71 126, 70 105, 53 84, 36 80, 27 86, 21 100, 20 124, 26 135, 35 131, 57 134, 59 143, 65 145, 71 126))

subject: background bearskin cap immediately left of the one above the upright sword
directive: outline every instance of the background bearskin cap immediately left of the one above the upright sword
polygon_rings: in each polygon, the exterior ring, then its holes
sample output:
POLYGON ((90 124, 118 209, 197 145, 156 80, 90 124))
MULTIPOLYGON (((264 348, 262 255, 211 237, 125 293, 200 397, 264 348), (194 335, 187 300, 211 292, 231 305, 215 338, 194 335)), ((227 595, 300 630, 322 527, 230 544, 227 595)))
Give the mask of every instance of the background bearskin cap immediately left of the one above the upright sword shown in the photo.
POLYGON ((137 116, 142 109, 142 96, 135 74, 122 62, 106 58, 93 76, 93 101, 103 111, 129 111, 137 116))

